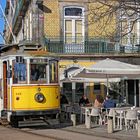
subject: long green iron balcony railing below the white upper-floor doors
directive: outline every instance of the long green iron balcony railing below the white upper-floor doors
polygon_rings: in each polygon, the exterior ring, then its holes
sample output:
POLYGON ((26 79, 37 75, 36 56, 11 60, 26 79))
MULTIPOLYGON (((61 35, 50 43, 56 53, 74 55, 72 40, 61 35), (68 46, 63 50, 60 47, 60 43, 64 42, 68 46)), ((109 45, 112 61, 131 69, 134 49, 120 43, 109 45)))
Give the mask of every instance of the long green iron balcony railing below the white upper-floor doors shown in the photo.
MULTIPOLYGON (((81 39, 79 39, 81 40, 81 39)), ((109 39, 86 38, 82 43, 65 43, 63 38, 45 38, 48 52, 58 54, 128 54, 140 53, 140 46, 134 46, 127 51, 127 46, 117 45, 109 39)))

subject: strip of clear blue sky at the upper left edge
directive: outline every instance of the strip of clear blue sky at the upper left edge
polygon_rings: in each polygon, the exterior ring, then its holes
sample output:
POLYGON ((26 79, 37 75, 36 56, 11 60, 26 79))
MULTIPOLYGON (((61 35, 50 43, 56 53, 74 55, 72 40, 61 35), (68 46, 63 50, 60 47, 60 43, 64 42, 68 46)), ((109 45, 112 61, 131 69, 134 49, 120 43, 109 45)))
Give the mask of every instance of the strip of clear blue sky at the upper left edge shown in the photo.
MULTIPOLYGON (((0 4, 2 5, 3 11, 5 11, 6 0, 0 0, 0 4)), ((3 34, 4 29, 4 17, 2 15, 2 11, 0 10, 0 32, 3 34)), ((3 44, 3 38, 0 35, 0 44, 3 44)))

